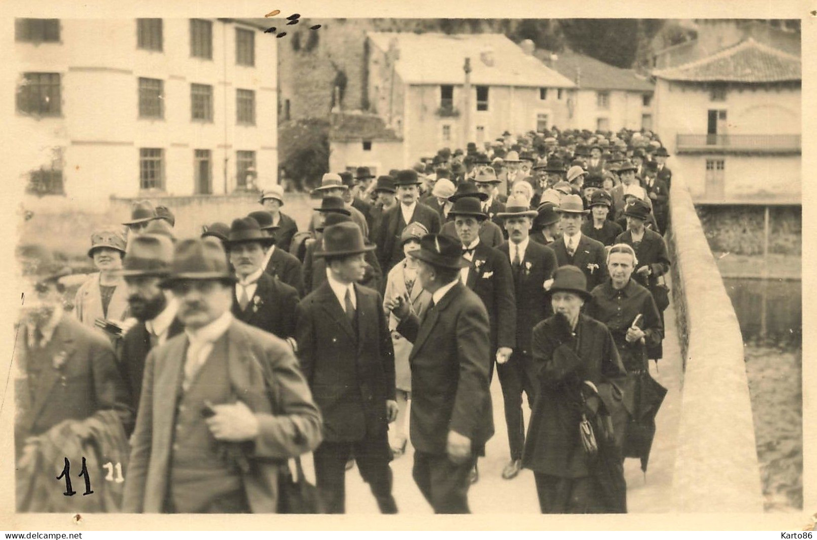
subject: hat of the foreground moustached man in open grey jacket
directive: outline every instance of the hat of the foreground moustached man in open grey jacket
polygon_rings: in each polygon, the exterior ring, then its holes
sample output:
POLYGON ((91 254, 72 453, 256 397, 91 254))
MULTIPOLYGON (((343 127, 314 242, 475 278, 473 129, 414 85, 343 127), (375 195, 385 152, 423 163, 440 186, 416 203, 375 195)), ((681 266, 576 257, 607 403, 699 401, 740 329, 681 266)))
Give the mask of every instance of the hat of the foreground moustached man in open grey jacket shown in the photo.
POLYGON ((169 275, 161 286, 170 288, 181 280, 217 280, 234 283, 221 243, 189 238, 176 243, 169 275))

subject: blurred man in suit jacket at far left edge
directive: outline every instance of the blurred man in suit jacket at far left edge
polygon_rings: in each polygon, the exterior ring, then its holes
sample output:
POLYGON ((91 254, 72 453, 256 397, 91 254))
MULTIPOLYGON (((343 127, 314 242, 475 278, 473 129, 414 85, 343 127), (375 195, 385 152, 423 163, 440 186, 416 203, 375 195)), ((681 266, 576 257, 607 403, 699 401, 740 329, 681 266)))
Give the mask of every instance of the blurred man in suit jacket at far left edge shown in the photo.
POLYGON ((39 278, 32 277, 25 292, 16 349, 17 362, 25 367, 16 391, 18 452, 31 435, 105 410, 116 412, 130 433, 132 408, 110 341, 63 310, 65 287, 59 279, 70 269, 44 257, 35 271, 39 278))

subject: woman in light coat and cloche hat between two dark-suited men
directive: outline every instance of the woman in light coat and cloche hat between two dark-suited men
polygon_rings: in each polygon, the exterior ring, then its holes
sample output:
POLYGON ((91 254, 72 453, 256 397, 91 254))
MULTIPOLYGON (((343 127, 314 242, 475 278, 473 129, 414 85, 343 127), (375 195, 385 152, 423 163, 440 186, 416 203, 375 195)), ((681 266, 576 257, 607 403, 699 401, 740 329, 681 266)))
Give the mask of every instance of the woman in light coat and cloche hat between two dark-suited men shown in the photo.
MULTIPOLYGON (((417 317, 422 319, 429 304, 431 304, 431 293, 420 286, 417 280, 417 260, 408 255, 411 250, 420 247, 420 238, 428 233, 422 223, 409 223, 400 234, 400 244, 403 247, 405 259, 391 268, 386 281, 386 293, 383 295, 383 305, 385 306, 393 299, 408 296, 411 300, 411 308, 417 317)), ((411 397, 411 369, 408 367, 408 355, 411 353, 412 344, 396 331, 398 319, 386 309, 389 316, 389 330, 391 330, 391 342, 395 347, 395 386, 397 389, 397 420, 394 424, 394 433, 391 437, 391 451, 395 457, 400 457, 405 453, 406 441, 408 440, 405 430, 405 421, 408 412, 408 399, 411 397)))

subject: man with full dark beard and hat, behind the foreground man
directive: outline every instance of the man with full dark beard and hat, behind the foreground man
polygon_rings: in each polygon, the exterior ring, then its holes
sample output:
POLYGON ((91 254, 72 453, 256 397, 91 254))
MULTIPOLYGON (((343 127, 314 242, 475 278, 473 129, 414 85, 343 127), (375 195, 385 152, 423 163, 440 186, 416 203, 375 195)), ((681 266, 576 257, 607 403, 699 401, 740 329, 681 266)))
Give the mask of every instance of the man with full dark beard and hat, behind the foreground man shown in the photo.
MULTIPOLYGON (((158 223, 158 222, 154 222, 158 223)), ((145 229, 150 230, 150 229, 145 229)), ((176 299, 159 284, 173 262, 173 243, 167 236, 139 234, 127 245, 123 269, 127 303, 137 322, 123 337, 119 370, 131 392, 134 411, 139 410, 145 358, 150 349, 164 344, 184 330, 176 317, 176 299)))

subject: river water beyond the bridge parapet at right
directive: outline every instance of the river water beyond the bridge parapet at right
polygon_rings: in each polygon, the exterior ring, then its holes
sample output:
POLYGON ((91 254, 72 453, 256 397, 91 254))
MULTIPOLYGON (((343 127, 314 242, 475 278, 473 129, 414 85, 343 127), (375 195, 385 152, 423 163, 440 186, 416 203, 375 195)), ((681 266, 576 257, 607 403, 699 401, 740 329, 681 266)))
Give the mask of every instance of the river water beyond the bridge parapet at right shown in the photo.
POLYGON ((743 333, 766 511, 803 505, 801 281, 724 278, 743 333))

